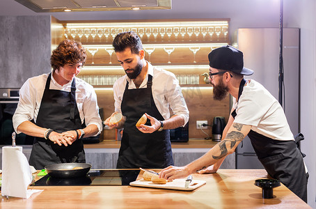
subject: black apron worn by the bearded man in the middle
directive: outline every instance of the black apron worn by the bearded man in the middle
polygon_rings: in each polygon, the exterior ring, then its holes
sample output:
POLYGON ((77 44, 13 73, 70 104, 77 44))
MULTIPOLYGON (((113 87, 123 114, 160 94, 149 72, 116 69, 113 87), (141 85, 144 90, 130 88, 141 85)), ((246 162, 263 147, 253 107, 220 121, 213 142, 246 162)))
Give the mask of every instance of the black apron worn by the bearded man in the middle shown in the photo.
MULTIPOLYGON (((144 113, 164 121, 152 97, 152 76, 148 75, 147 88, 128 89, 128 85, 127 82, 121 104, 126 121, 116 167, 163 169, 173 165, 169 130, 144 134, 136 128, 144 113)), ((150 120, 145 125, 150 125, 150 120)))

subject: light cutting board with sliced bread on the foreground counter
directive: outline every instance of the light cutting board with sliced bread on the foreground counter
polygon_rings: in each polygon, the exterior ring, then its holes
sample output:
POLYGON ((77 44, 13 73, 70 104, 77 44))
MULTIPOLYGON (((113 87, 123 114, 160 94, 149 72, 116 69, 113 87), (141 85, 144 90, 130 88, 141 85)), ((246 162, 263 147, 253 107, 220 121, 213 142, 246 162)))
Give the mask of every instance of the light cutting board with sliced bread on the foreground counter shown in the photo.
POLYGON ((152 183, 152 181, 148 180, 135 180, 129 185, 136 186, 136 187, 152 187, 152 188, 158 188, 158 189, 176 189, 176 190, 183 190, 183 191, 192 191, 202 185, 205 185, 205 180, 192 180, 189 187, 185 188, 185 179, 175 179, 171 182, 167 182, 164 185, 155 184, 152 183))

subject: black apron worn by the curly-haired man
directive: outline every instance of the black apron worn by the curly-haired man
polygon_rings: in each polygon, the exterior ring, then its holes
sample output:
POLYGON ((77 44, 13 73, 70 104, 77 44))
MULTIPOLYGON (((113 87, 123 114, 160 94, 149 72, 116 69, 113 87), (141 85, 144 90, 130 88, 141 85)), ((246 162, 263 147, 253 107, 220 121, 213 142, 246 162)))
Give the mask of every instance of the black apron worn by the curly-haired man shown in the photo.
MULTIPOLYGON (((65 132, 81 128, 81 119, 76 102, 76 83, 72 80, 71 92, 49 89, 51 74, 47 78, 40 103, 36 125, 65 132)), ((44 169, 48 164, 62 162, 86 162, 84 144, 77 139, 68 146, 59 146, 49 139, 35 137, 29 164, 35 169, 44 169)))

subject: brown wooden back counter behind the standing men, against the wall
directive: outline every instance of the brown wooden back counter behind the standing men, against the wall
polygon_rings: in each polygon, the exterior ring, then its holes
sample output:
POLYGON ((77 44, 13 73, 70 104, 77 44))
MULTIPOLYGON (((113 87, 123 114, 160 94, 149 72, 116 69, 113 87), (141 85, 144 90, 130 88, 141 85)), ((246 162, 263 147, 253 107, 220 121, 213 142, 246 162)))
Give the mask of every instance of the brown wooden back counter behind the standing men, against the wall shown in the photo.
MULTIPOLYGON (((171 148, 212 148, 218 142, 205 139, 189 139, 188 142, 171 142, 171 148)), ((98 144, 84 144, 84 148, 120 148, 120 141, 104 140, 98 144)))

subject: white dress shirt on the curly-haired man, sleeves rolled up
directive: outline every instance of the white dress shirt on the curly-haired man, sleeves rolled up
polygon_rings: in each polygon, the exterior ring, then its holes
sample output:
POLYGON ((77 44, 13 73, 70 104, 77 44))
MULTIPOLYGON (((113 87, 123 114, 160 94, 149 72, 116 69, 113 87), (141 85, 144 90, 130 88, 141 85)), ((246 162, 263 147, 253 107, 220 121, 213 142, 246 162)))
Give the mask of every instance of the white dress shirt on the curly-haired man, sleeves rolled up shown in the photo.
MULTIPOLYGON (((27 79, 19 90, 19 104, 17 104, 17 109, 13 116, 13 127, 17 134, 21 133, 17 131, 17 127, 24 121, 31 121, 34 119, 36 122, 48 75, 49 73, 27 79)), ((86 120, 86 126, 90 124, 97 125, 99 130, 97 134, 100 134, 100 132, 102 132, 102 121, 99 116, 97 95, 95 94, 93 86, 77 77, 74 77, 74 79, 76 79, 76 102, 81 123, 84 123, 84 120, 86 120)), ((49 89, 70 92, 71 84, 72 81, 61 86, 52 76, 49 89)))

